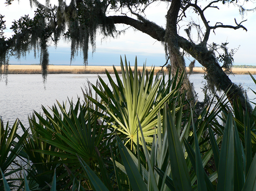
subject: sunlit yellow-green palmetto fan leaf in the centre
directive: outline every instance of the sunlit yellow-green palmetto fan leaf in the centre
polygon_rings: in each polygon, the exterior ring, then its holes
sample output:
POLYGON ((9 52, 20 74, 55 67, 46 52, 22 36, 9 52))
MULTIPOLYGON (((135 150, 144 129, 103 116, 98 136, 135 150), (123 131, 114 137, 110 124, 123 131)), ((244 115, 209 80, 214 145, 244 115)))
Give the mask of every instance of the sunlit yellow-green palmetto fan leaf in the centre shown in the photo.
MULTIPOLYGON (((114 119, 111 127, 120 132, 126 138, 125 144, 129 143, 132 148, 132 145, 137 143, 138 120, 145 141, 152 142, 151 136, 157 126, 157 113, 165 102, 175 99, 178 87, 170 88, 175 81, 174 78, 168 79, 165 83, 164 74, 162 77, 159 73, 154 76, 154 68, 147 72, 143 66, 142 71, 138 71, 136 59, 134 71, 127 64, 126 58, 124 64, 123 66, 121 59, 122 80, 113 67, 116 82, 106 71, 109 84, 98 77, 98 88, 94 85, 92 87, 101 97, 101 106, 104 106, 106 112, 114 119)), ((96 103, 96 100, 92 101, 96 103)), ((138 134, 140 137, 141 133, 138 134)), ((139 144, 141 144, 140 140, 139 144)))

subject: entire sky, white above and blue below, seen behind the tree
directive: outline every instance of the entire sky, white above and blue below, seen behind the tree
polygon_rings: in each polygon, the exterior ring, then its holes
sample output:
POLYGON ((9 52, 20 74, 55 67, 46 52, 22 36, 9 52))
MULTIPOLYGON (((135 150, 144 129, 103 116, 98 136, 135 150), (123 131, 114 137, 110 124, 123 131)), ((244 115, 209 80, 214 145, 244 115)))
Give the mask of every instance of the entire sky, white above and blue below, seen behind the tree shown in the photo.
MULTIPOLYGON (((0 14, 5 15, 4 20, 6 20, 6 37, 11 36, 11 22, 13 19, 18 19, 24 14, 29 14, 30 17, 33 15, 33 10, 30 8, 29 0, 15 0, 11 5, 6 6, 3 4, 5 0, 1 0, 0 3, 0 14)), ((40 1, 44 2, 44 1, 40 1)), ((51 1, 54 3, 53 1, 51 1)), ((205 5, 205 0, 198 2, 205 5)), ((241 1, 243 2, 243 1, 241 1)), ((244 2, 247 8, 251 8, 255 4, 250 2, 244 2)), ((205 17, 210 21, 211 25, 216 22, 222 22, 223 24, 235 25, 234 18, 236 18, 239 23, 242 20, 247 19, 243 22, 243 25, 247 28, 247 32, 241 28, 238 30, 233 30, 229 28, 218 28, 215 30, 215 34, 211 32, 208 43, 215 42, 220 44, 222 42, 229 42, 228 47, 237 48, 238 51, 234 55, 234 65, 256 65, 256 12, 248 12, 242 18, 239 15, 238 8, 233 5, 227 5, 222 3, 215 4, 219 6, 219 9, 210 8, 206 10, 205 17)), ((165 14, 168 5, 164 2, 152 3, 145 11, 146 18, 155 22, 156 24, 165 28, 165 14)), ((110 12, 111 14, 111 12, 110 12)), ((127 16, 132 16, 127 14, 127 16)), ((186 37, 184 29, 188 21, 193 18, 193 20, 199 20, 192 11, 186 14, 187 21, 179 23, 180 29, 179 34, 186 37)), ((201 23, 202 24, 202 23, 201 23)), ((126 28, 127 25, 119 24, 117 29, 122 30, 126 28)), ((196 33, 192 33, 193 39, 196 39, 196 33)), ((60 41, 57 48, 53 47, 53 44, 49 47, 49 64, 54 65, 69 65, 70 64, 70 43, 65 43, 60 41)), ((133 65, 135 56, 137 56, 138 65, 143 65, 146 62, 147 66, 155 65, 161 66, 165 63, 165 53, 164 48, 160 42, 151 38, 147 34, 140 31, 135 31, 133 28, 126 30, 125 34, 121 34, 118 38, 103 38, 101 34, 96 37, 96 51, 91 53, 89 50, 88 65, 119 65, 120 56, 124 59, 124 55, 130 64, 133 65)), ((189 65, 193 58, 186 57, 186 65, 189 65)), ((10 64, 38 64, 39 58, 33 58, 33 52, 27 54, 26 58, 21 58, 20 60, 11 57, 9 60, 10 64)), ((71 63, 72 65, 82 65, 83 61, 81 56, 75 58, 71 63)), ((200 64, 196 64, 200 66, 200 64)))

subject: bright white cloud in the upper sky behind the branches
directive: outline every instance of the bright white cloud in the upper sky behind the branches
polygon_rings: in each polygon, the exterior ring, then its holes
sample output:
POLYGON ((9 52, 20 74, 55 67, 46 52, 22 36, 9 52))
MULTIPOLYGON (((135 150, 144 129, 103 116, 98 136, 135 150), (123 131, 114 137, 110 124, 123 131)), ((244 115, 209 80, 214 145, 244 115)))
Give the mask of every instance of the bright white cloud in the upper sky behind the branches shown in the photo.
MULTIPOLYGON (((44 2, 44 0, 41 1, 44 2)), ((205 1, 200 1, 199 3, 205 3, 205 1)), ((214 25, 217 21, 220 21, 223 24, 235 25, 234 18, 236 18, 237 22, 242 20, 237 7, 232 5, 227 6, 226 4, 222 5, 221 3, 216 5, 219 6, 219 10, 216 8, 205 10, 205 17, 209 19, 211 25, 214 25)), ((147 19, 165 27, 167 6, 168 4, 165 2, 152 3, 149 6, 149 9, 145 11, 147 19)), ((0 13, 5 15, 6 27, 9 28, 13 19, 18 19, 24 14, 32 16, 33 10, 30 8, 29 0, 20 0, 19 3, 14 1, 9 6, 0 5, 0 13)), ((194 18, 194 15, 195 13, 192 11, 187 13, 188 21, 190 16, 193 16, 194 18)), ((239 64, 256 64, 255 56, 253 56, 255 54, 254 50, 256 42, 256 15, 255 13, 247 13, 244 18, 248 18, 248 20, 243 23, 248 29, 247 32, 242 29, 233 30, 228 28, 218 28, 215 30, 216 34, 211 32, 209 43, 211 43, 211 41, 221 43, 227 40, 230 48, 236 48, 240 45, 239 51, 234 56, 235 62, 239 64)), ((197 18, 195 17, 194 19, 196 20, 197 18)), ((181 26, 179 32, 184 37, 186 36, 183 30, 185 29, 186 24, 187 21, 179 23, 179 26, 181 26)), ((119 29, 126 27, 126 25, 118 25, 119 29)), ((6 36, 10 36, 10 34, 10 30, 7 30, 6 36)), ((196 38, 196 34, 193 34, 193 37, 196 38)), ((148 56, 164 55, 164 49, 160 42, 155 41, 155 39, 140 31, 134 31, 132 28, 129 28, 125 34, 121 34, 116 39, 108 38, 102 40, 101 38, 102 36, 100 35, 96 38, 96 52, 98 53, 114 51, 115 53, 120 52, 120 54, 130 53, 136 55, 136 53, 139 52, 140 54, 148 56)), ((58 43, 59 47, 69 47, 69 45, 70 43, 63 41, 59 41, 58 43)))

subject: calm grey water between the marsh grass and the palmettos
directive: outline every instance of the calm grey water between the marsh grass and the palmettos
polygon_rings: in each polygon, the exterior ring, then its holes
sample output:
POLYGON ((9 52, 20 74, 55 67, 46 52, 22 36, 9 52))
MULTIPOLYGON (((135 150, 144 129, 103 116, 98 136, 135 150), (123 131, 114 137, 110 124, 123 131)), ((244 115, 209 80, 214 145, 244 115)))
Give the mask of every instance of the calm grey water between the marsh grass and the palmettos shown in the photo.
MULTIPOLYGON (((100 75, 105 81, 105 75, 100 75)), ((203 99, 201 87, 203 82, 202 74, 192 74, 189 79, 193 82, 195 91, 198 93, 199 100, 203 99)), ((248 89, 250 87, 256 91, 256 85, 249 75, 229 76, 232 82, 248 89)), ((256 78, 256 76, 254 76, 256 78)), ((44 86, 40 74, 9 74, 8 84, 5 79, 0 81, 0 115, 4 123, 9 121, 13 124, 16 118, 25 125, 28 125, 27 116, 33 110, 40 112, 41 105, 51 107, 58 100, 60 103, 69 99, 77 100, 82 96, 81 88, 89 80, 92 84, 96 83, 95 74, 49 74, 44 86)), ((256 96, 251 90, 248 91, 249 99, 256 96)), ((256 102, 256 101, 255 101, 256 102)))

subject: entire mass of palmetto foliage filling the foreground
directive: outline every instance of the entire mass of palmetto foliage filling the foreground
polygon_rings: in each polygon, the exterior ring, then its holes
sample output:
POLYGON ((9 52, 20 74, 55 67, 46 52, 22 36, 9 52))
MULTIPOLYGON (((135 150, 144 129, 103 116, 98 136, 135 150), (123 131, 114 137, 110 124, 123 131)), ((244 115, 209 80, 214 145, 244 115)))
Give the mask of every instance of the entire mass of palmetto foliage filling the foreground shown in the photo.
POLYGON ((101 78, 92 86, 101 100, 89 90, 83 104, 42 107, 29 134, 22 124, 16 134, 18 120, 5 130, 0 122, 1 189, 15 188, 6 177, 19 171, 24 191, 254 191, 256 108, 230 108, 225 92, 195 113, 179 92, 182 79, 152 73, 133 74, 125 62, 122 80, 106 72, 112 90, 101 78), (25 168, 9 171, 16 156, 25 168))

